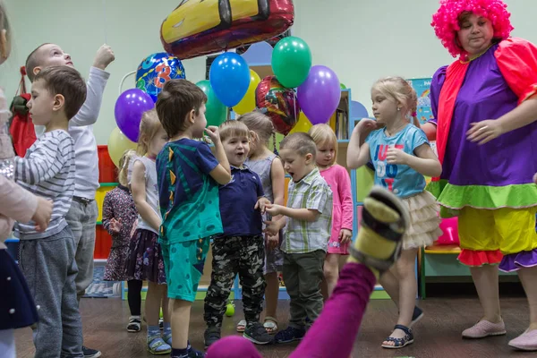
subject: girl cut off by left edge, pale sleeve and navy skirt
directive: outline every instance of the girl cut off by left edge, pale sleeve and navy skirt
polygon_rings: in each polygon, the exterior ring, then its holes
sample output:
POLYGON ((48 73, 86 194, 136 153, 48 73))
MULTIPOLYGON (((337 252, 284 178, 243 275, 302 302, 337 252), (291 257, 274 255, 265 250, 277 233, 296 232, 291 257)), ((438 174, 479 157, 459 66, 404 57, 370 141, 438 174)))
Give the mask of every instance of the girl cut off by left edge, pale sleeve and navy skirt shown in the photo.
MULTIPOLYGON (((10 35, 4 3, 0 1, 0 64, 10 55, 10 35)), ((4 90, 0 89, 0 355, 14 358, 14 329, 37 323, 38 310, 4 241, 11 234, 13 219, 22 223, 33 220, 40 230, 45 230, 52 215, 52 202, 38 198, 13 182, 15 154, 7 128, 9 117, 4 90)))

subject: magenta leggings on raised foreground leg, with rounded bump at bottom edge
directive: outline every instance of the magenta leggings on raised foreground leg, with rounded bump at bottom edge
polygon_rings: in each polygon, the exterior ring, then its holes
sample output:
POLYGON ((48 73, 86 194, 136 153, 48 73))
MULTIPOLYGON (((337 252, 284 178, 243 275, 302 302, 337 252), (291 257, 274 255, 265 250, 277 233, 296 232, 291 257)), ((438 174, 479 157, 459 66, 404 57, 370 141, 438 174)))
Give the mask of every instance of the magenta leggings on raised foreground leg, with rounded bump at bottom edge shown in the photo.
MULTIPOLYGON (((348 357, 375 282, 369 268, 360 263, 347 263, 319 318, 289 358, 348 357)), ((211 345, 206 356, 232 357, 261 358, 261 355, 250 341, 231 336, 211 345)))

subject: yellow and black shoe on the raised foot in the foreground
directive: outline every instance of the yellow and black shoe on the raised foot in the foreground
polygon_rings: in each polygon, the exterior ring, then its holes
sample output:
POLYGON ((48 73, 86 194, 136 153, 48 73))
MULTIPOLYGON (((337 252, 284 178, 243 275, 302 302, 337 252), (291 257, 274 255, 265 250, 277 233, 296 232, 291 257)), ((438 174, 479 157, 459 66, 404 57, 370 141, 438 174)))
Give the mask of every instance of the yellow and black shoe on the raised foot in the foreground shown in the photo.
POLYGON ((362 228, 350 248, 352 259, 382 275, 401 256, 402 239, 409 222, 408 210, 396 195, 379 186, 373 187, 363 200, 362 228), (382 247, 390 246, 393 251, 388 258, 380 259, 379 256, 386 257, 387 249, 382 247))

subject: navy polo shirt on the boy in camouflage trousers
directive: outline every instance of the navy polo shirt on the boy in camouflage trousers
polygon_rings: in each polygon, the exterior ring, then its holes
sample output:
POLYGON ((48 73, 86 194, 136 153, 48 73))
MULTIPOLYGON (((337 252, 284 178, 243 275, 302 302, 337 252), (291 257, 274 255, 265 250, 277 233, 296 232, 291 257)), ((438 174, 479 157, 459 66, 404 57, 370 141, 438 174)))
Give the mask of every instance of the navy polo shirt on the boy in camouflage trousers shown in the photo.
POLYGON ((224 236, 252 236, 263 232, 257 200, 264 195, 260 176, 248 168, 231 166, 231 181, 218 187, 224 236))

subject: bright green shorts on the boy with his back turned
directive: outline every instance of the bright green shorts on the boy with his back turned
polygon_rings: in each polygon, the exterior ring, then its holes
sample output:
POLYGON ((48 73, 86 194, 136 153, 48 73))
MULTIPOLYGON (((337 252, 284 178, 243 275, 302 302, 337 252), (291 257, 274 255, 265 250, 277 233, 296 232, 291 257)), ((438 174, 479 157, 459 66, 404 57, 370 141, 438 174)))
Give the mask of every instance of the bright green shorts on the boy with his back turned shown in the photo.
POLYGON ((184 243, 161 243, 168 297, 193 302, 198 292, 210 238, 184 243))

